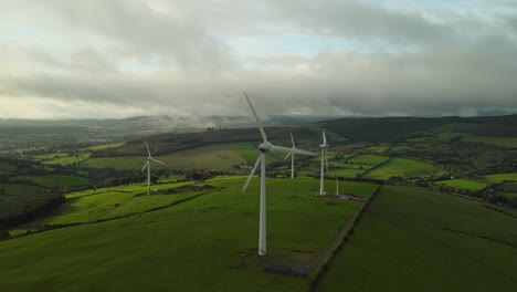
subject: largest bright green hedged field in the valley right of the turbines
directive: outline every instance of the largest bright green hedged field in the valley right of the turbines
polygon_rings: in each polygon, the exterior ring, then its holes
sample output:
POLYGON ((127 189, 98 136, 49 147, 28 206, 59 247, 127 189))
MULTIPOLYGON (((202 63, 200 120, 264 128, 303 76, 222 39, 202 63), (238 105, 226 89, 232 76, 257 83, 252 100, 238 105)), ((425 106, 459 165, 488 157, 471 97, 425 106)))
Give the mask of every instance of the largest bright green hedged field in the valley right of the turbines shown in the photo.
POLYGON ((392 176, 410 178, 441 176, 444 174, 446 174, 444 169, 441 169, 434 165, 405 158, 392 158, 381 167, 374 168, 366 174, 366 177, 388 179, 392 176))

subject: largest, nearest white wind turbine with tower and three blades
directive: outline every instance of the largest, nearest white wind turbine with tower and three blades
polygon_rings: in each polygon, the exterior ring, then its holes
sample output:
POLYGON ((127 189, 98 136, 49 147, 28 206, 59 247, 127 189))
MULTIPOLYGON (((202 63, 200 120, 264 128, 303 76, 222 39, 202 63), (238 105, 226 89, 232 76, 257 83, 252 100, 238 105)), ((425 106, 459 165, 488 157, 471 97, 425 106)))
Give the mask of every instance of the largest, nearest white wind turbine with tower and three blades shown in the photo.
POLYGON ((309 156, 317 156, 317 154, 312 153, 312 152, 305 152, 296 148, 287 148, 287 147, 281 147, 281 146, 275 146, 271 144, 267 140, 267 136, 264 132, 264 128, 262 127, 262 123, 258 119, 258 116, 256 115, 255 108, 253 107, 253 104, 251 103, 250 98, 247 97, 246 93, 244 93, 244 97, 250 105, 253 116, 255 117, 256 125, 258 126, 258 131, 261 132, 261 136, 263 138, 263 143, 258 145, 258 150, 261 152, 261 155, 255 161, 255 166, 253 166, 253 169, 247 177, 246 182, 242 187, 242 191, 245 191, 247 188, 247 185, 250 184, 252 177, 255 175, 256 169, 258 168, 258 165, 261 166, 261 210, 260 210, 260 219, 258 219, 258 255, 265 255, 266 254, 266 184, 265 184, 265 178, 266 178, 266 153, 268 152, 282 152, 282 153, 292 153, 292 154, 300 154, 300 155, 309 155, 309 156))

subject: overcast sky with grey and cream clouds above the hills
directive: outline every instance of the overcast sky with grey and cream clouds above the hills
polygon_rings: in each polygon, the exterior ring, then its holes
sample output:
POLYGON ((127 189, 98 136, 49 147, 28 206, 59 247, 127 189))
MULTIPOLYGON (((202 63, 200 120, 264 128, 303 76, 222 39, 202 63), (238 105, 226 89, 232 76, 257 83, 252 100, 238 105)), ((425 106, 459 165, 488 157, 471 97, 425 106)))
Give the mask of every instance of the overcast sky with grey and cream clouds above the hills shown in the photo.
POLYGON ((0 117, 517 112, 515 0, 0 0, 0 117))

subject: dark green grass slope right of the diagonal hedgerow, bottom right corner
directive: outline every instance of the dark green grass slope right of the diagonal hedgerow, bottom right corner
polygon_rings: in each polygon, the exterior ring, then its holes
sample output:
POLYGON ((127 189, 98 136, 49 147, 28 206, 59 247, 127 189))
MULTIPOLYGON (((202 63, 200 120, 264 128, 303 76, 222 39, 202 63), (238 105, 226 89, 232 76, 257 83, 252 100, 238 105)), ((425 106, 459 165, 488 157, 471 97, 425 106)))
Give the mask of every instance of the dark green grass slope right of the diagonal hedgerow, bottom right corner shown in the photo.
POLYGON ((383 187, 317 291, 516 291, 517 211, 505 212, 383 187))

